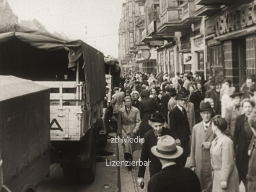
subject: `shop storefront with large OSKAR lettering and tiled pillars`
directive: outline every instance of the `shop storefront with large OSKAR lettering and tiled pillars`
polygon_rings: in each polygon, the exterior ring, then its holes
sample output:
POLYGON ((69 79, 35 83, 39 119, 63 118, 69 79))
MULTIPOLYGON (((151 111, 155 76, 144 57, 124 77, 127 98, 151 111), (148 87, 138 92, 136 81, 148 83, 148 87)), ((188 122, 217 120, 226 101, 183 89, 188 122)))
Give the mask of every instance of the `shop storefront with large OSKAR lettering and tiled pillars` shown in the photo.
MULTIPOLYGON (((248 1, 247 1, 248 2, 248 1)), ((256 74, 256 1, 230 6, 205 23, 207 75, 237 88, 256 74)))

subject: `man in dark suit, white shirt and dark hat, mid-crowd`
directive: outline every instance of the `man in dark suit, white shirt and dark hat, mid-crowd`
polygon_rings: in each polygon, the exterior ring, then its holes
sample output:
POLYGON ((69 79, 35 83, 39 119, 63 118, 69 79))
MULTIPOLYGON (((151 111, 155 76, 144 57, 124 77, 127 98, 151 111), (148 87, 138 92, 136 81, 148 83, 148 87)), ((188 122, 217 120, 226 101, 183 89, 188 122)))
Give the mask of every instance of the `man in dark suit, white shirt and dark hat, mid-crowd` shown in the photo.
POLYGON ((190 154, 189 136, 191 135, 187 111, 184 108, 188 98, 184 93, 178 93, 175 99, 177 105, 169 113, 170 130, 173 138, 176 139, 177 145, 181 146, 184 151, 181 157, 176 159, 176 162, 185 166, 190 154))

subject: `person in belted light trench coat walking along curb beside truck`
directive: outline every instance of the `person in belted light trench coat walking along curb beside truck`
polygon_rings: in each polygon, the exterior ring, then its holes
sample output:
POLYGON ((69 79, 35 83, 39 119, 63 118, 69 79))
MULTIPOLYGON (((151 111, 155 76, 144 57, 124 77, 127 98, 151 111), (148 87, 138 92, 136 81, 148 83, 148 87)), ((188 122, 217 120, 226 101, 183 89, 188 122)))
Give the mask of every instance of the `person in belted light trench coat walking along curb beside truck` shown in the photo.
MULTIPOLYGON (((139 139, 139 126, 141 123, 139 109, 132 106, 132 98, 127 96, 124 98, 125 106, 119 109, 118 113, 118 131, 117 134, 122 139, 136 138, 139 139)), ((132 161, 134 151, 140 149, 140 142, 123 142, 123 152, 125 161, 132 161)), ((131 166, 128 166, 131 169, 131 166)))

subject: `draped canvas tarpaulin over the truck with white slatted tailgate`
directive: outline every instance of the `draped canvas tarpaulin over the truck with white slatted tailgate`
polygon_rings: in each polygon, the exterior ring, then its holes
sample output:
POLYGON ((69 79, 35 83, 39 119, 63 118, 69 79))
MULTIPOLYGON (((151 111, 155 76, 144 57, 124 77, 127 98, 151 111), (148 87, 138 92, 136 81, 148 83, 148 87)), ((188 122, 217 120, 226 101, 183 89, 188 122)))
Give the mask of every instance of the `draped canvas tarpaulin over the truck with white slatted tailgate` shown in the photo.
MULTIPOLYGON (((105 97, 104 56, 97 49, 81 40, 69 41, 50 33, 28 29, 17 24, 0 28, 1 44, 14 38, 18 38, 34 48, 47 51, 65 49, 68 54, 69 68, 74 68, 76 61, 82 56, 83 63, 79 65, 83 65, 85 73, 87 108, 90 109, 105 97)), ((10 57, 15 57, 15 54, 17 53, 12 53, 10 57)), ((37 63, 35 62, 34 64, 36 65, 37 63)))

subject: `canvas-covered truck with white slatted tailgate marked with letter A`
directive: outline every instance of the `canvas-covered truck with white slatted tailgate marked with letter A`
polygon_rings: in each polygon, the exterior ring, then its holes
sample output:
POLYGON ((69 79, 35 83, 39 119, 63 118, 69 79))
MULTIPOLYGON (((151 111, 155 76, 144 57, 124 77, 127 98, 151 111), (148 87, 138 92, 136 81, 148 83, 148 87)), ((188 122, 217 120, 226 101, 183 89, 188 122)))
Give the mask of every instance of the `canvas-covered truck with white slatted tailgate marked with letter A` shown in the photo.
POLYGON ((60 163, 67 182, 93 182, 97 142, 106 134, 103 54, 16 24, 0 28, 0 54, 1 75, 50 87, 51 163, 60 163))

